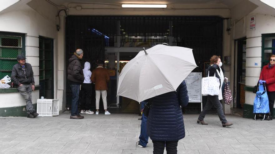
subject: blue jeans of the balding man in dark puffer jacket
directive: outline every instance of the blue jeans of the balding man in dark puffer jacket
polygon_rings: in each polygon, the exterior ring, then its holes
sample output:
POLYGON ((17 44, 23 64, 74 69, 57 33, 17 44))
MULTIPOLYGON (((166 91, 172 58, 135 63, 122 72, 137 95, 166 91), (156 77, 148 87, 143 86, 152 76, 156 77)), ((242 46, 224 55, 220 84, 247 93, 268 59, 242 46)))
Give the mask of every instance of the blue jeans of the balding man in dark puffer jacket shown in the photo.
POLYGON ((72 105, 71 105, 71 116, 78 115, 78 100, 79 100, 79 90, 80 90, 80 85, 74 85, 71 84, 71 89, 72 89, 72 105))

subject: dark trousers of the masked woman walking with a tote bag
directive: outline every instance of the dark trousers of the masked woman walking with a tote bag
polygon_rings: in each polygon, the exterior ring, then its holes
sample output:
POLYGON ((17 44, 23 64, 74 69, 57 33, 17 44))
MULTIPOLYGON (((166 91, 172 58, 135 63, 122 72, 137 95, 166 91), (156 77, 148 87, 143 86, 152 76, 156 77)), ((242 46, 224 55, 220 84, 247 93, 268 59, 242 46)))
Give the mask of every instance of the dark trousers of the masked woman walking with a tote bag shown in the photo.
POLYGON ((225 119, 225 115, 222 110, 222 104, 221 104, 220 100, 218 99, 218 96, 210 96, 210 95, 207 96, 207 102, 206 102, 204 108, 202 109, 202 112, 199 115, 198 119, 203 120, 205 115, 207 114, 207 112, 209 110, 211 110, 212 106, 214 106, 216 108, 217 114, 218 114, 222 124, 227 123, 227 120, 225 119))

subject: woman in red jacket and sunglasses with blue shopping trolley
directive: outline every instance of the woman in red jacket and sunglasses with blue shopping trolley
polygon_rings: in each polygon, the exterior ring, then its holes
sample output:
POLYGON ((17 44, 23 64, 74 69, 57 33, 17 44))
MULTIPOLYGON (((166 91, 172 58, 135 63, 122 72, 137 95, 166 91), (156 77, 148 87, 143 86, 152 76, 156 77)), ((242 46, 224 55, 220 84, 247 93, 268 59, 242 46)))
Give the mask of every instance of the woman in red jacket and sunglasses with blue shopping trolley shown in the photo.
MULTIPOLYGON (((272 115, 272 110, 274 106, 274 100, 275 100, 275 55, 272 54, 269 58, 270 63, 265 65, 262 68, 262 72, 260 75, 259 83, 263 84, 263 82, 266 83, 267 88, 267 96, 269 100, 269 110, 270 115, 272 115)), ((272 120, 272 116, 270 116, 272 120)))

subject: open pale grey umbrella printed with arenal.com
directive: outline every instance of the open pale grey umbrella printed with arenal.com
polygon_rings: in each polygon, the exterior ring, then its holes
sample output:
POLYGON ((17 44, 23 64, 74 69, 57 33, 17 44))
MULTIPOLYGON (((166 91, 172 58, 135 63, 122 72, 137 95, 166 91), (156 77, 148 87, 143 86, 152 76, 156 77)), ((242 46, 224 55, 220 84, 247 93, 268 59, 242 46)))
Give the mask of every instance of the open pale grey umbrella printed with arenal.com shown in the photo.
POLYGON ((176 91, 196 67, 192 49, 155 45, 140 51, 124 66, 119 75, 117 95, 141 102, 176 91))

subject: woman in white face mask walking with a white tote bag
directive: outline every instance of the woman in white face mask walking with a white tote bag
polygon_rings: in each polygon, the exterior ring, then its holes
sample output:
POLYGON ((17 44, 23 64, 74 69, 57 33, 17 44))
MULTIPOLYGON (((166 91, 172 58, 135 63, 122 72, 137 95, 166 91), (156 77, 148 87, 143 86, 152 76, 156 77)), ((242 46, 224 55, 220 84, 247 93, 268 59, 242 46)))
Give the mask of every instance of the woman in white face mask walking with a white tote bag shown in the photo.
POLYGON ((205 115, 207 114, 207 111, 211 110, 212 106, 214 106, 216 108, 217 114, 222 122, 222 127, 231 126, 232 123, 228 122, 225 119, 225 115, 222 110, 222 104, 220 102, 220 100, 222 100, 222 83, 224 81, 223 71, 221 68, 221 66, 222 66, 221 57, 217 56, 217 55, 213 55, 210 58, 210 62, 211 62, 211 66, 209 66, 207 68, 208 77, 218 78, 219 86, 216 87, 217 89, 212 89, 211 92, 209 92, 209 94, 207 94, 207 91, 206 92, 202 91, 203 93, 205 93, 204 96, 207 95, 207 102, 206 102, 206 105, 204 106, 204 108, 202 109, 201 114, 199 115, 199 117, 197 119, 197 124, 201 123, 203 125, 207 125, 207 123, 204 122, 203 119, 204 119, 205 115))

